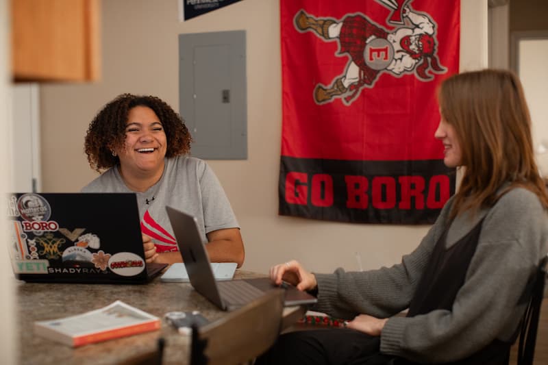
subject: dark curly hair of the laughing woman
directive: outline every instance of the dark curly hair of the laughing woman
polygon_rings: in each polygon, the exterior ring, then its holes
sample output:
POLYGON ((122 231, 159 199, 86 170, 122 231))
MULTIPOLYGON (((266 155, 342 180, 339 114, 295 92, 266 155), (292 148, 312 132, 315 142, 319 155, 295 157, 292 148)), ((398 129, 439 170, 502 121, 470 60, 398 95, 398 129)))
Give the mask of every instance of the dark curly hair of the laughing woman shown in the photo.
POLYGON ((101 172, 120 163, 111 150, 123 147, 127 115, 136 106, 151 108, 160 119, 167 140, 166 158, 190 152, 192 136, 171 106, 158 97, 122 94, 107 103, 88 127, 84 151, 91 168, 101 172))

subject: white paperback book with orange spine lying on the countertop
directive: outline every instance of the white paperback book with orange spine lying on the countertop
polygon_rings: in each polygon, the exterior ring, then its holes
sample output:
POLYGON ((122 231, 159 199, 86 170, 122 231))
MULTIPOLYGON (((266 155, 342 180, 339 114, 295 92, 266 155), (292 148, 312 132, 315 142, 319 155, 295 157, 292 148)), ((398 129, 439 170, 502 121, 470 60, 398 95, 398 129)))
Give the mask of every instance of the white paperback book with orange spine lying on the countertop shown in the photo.
POLYGON ((34 333, 72 347, 160 329, 160 318, 123 301, 76 316, 34 323, 34 333))

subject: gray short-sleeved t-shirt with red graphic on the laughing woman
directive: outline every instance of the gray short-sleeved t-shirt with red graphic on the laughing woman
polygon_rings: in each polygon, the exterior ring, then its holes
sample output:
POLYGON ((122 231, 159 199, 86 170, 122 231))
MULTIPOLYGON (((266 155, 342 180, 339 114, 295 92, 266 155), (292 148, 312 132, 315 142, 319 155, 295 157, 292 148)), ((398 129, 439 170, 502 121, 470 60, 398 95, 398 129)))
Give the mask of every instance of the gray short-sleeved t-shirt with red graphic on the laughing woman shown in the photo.
MULTIPOLYGON (((112 167, 82 192, 134 192, 112 167)), ((158 252, 177 251, 166 205, 195 216, 202 240, 217 229, 239 228, 219 179, 205 161, 188 156, 166 158, 164 174, 145 192, 136 192, 142 233, 151 236, 158 252)))

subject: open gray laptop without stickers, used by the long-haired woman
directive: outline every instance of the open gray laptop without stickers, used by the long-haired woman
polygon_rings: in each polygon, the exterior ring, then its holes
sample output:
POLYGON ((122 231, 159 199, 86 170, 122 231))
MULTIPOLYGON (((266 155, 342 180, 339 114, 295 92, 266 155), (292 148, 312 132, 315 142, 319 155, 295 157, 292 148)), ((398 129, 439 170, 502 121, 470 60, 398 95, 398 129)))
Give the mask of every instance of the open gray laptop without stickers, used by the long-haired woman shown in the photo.
MULTIPOLYGON (((173 207, 166 206, 167 215, 175 234, 177 247, 190 279, 190 284, 197 292, 206 297, 221 310, 233 310, 262 297, 275 286, 271 279, 236 279, 216 281, 208 252, 201 240, 197 219, 173 207)), ((284 306, 311 305, 316 297, 297 290, 295 286, 284 285, 284 306)))

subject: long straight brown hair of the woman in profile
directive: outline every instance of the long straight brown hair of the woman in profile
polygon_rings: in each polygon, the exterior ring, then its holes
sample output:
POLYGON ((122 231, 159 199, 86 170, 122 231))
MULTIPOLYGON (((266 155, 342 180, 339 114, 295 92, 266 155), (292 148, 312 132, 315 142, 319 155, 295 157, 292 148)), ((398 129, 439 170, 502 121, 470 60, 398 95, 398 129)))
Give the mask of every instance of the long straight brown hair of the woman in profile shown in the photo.
POLYGON ((547 208, 545 183, 534 160, 531 118, 521 83, 510 71, 482 70, 449 77, 438 91, 440 112, 456 129, 464 175, 451 217, 490 207, 522 186, 547 208), (500 188, 509 184, 508 188, 500 188))

